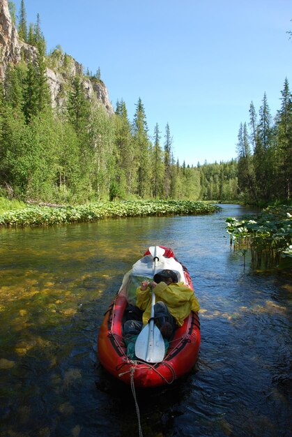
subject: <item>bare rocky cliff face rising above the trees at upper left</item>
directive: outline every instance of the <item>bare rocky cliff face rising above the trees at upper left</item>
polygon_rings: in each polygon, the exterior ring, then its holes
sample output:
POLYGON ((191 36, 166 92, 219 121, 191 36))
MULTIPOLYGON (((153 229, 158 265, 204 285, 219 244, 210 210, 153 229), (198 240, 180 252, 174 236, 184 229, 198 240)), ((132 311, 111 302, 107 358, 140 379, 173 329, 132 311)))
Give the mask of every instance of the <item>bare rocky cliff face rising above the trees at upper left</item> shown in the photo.
MULTIPOLYGON (((22 56, 29 61, 36 57, 36 50, 36 47, 20 40, 10 17, 8 1, 0 0, 0 80, 4 79, 8 64, 17 64, 22 56)), ((103 105, 107 114, 114 114, 105 84, 94 77, 85 77, 82 65, 75 59, 59 52, 58 60, 49 60, 49 64, 54 64, 47 68, 53 107, 62 106, 66 102, 66 91, 70 89, 72 78, 79 75, 82 77, 86 97, 103 105)))

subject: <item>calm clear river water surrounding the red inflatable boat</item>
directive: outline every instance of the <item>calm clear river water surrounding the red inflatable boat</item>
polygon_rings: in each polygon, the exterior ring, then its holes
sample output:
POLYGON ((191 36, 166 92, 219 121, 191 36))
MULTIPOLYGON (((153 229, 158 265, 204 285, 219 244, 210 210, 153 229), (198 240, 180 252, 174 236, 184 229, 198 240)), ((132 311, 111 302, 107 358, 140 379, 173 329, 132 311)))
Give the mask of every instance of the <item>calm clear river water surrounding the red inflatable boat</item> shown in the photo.
POLYGON ((130 387, 98 362, 103 314, 148 246, 173 249, 201 305, 192 373, 137 390, 144 437, 291 436, 291 276, 233 253, 208 216, 0 230, 0 436, 138 436, 130 387))

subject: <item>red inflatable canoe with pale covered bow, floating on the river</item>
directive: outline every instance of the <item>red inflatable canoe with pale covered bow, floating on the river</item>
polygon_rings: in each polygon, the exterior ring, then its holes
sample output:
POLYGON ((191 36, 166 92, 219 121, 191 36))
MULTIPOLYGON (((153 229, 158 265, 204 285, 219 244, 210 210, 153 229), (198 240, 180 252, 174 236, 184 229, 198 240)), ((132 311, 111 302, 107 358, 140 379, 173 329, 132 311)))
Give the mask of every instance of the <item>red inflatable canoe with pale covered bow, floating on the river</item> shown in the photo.
MULTIPOLYGON (((171 249, 163 246, 160 248, 165 251, 157 263, 157 272, 162 269, 174 270, 178 281, 183 281, 193 289, 186 267, 176 260, 171 249)), ((124 311, 128 302, 135 304, 136 289, 141 281, 152 278, 153 256, 148 250, 130 272, 125 274, 120 290, 105 313, 98 334, 98 357, 102 366, 124 383, 134 383, 135 387, 157 387, 173 383, 176 378, 192 369, 199 355, 199 317, 193 312, 185 319, 183 326, 176 329, 162 362, 149 363, 127 355, 122 335, 124 311)))

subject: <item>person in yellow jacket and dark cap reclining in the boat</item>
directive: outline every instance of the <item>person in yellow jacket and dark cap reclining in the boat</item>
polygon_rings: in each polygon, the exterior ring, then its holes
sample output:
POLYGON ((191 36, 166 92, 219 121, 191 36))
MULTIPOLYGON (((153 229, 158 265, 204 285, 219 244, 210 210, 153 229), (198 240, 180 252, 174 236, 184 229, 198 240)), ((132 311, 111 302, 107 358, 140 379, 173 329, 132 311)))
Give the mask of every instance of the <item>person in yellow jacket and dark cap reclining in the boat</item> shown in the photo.
POLYGON ((126 333, 131 332, 134 334, 148 323, 151 315, 152 290, 156 297, 154 306, 155 323, 160 328, 162 336, 170 339, 174 329, 183 325, 183 320, 189 316, 190 311, 199 311, 199 302, 193 290, 185 286, 183 282, 178 282, 175 272, 162 270, 162 272, 154 275, 152 282, 143 281, 141 286, 137 288, 136 306, 143 311, 143 323, 137 320, 129 320, 125 323, 126 333))

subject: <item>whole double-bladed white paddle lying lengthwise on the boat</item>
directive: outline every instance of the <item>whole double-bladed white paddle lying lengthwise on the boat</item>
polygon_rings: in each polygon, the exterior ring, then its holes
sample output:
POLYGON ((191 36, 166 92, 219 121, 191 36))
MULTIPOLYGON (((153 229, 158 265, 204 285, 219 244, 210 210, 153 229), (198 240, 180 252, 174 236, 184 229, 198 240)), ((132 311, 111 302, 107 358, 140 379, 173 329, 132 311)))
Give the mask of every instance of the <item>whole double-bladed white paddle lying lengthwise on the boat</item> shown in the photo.
MULTIPOLYGON (((153 256, 153 276, 155 275, 157 261, 165 252, 159 246, 149 247, 153 256)), ((155 293, 152 291, 151 316, 149 323, 144 326, 135 343, 135 355, 146 362, 162 362, 165 355, 165 345, 160 329, 154 323, 155 293)))

